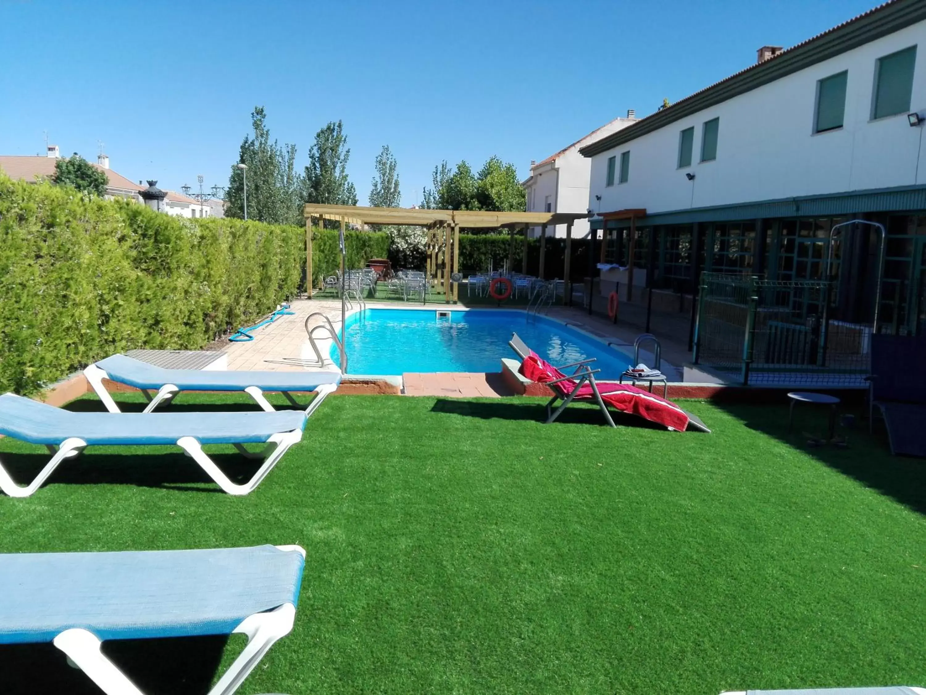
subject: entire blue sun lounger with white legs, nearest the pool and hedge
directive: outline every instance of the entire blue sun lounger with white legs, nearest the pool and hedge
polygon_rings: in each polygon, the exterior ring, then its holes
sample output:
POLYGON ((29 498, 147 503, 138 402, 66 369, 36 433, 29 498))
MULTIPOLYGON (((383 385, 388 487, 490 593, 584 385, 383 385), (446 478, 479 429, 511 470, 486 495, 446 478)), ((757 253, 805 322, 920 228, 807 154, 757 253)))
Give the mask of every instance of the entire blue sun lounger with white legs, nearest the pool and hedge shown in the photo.
POLYGON ((321 401, 341 383, 341 374, 333 372, 229 372, 198 369, 164 369, 134 360, 125 355, 113 355, 83 370, 87 381, 109 412, 119 412, 116 401, 106 391, 104 379, 139 388, 150 401, 144 412, 151 412, 160 403, 169 403, 181 391, 244 391, 265 411, 273 411, 264 398, 264 391, 282 391, 290 402, 298 405, 291 391, 314 391, 316 396, 306 409, 311 415, 321 401), (148 390, 157 391, 154 397, 148 390))

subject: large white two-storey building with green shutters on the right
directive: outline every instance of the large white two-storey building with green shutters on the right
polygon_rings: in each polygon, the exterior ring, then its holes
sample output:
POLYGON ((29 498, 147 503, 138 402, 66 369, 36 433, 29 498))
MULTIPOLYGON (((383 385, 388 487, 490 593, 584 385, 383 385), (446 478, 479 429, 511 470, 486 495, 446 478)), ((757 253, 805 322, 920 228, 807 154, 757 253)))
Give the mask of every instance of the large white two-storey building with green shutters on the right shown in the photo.
MULTIPOLYGON (((600 196, 604 218, 593 228, 607 226, 601 259, 676 292, 701 271, 814 280, 832 225, 865 218, 900 261, 885 264, 882 319, 926 330, 926 2, 893 0, 758 58, 582 146, 587 204, 600 196)), ((847 321, 870 316, 878 282, 877 237, 857 236, 840 250, 847 321)))

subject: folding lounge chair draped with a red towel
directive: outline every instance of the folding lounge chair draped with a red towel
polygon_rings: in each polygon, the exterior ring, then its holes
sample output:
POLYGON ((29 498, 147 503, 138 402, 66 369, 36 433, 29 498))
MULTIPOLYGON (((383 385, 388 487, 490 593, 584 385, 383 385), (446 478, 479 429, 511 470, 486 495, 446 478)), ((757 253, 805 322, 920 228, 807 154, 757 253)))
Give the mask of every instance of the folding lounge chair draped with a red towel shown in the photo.
POLYGON ((547 385, 554 392, 554 397, 546 404, 546 423, 554 422, 572 401, 585 400, 597 404, 605 421, 611 427, 617 425, 607 411, 608 405, 617 411, 638 415, 644 420, 661 424, 670 430, 684 432, 687 429, 698 429, 702 432, 710 432, 700 418, 693 413, 683 411, 670 400, 659 398, 636 386, 596 381, 594 374, 600 370, 593 370, 589 366, 594 362, 594 358, 565 365, 563 369, 576 368, 574 373, 567 375, 527 347, 518 334, 511 336, 508 345, 521 359, 520 372, 532 381, 547 385), (556 411, 553 411, 557 400, 563 402, 556 411))

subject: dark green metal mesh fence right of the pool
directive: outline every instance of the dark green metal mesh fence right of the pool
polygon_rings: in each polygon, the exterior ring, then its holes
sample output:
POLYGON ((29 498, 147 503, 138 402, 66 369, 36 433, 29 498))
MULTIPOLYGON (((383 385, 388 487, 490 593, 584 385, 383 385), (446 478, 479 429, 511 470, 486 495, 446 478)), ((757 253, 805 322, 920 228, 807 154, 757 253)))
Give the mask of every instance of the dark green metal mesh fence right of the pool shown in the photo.
POLYGON ((871 325, 834 320, 832 289, 703 273, 694 363, 744 385, 865 385, 871 325))

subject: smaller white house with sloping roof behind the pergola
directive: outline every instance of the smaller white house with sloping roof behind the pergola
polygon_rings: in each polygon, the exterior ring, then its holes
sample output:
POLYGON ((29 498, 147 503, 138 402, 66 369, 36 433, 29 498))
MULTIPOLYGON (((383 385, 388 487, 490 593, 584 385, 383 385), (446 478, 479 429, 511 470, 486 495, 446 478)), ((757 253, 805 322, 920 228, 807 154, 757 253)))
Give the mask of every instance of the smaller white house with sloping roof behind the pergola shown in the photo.
MULTIPOLYGON (((527 201, 528 212, 582 212, 588 208, 588 187, 591 162, 579 154, 579 149, 599 140, 621 128, 636 122, 633 111, 626 119, 615 119, 593 133, 585 135, 572 145, 559 150, 540 162, 531 162, 531 176, 521 182, 527 201)), ((595 206, 591 206, 596 210, 595 206)), ((529 230, 531 236, 539 236, 540 227, 529 230)), ((547 228, 547 236, 566 236, 566 225, 547 228)), ((572 226, 572 236, 582 238, 588 235, 588 221, 578 220, 572 226)))

